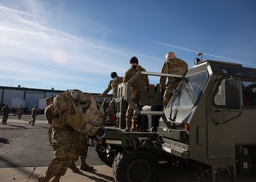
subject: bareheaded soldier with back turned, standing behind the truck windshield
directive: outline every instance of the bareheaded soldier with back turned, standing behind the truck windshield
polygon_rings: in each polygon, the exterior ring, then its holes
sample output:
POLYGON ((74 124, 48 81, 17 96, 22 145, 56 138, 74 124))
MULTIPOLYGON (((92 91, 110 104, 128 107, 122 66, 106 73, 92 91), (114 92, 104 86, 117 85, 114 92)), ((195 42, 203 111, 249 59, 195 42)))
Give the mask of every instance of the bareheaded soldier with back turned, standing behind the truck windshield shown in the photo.
MULTIPOLYGON (((163 63, 161 73, 169 73, 175 75, 185 75, 188 70, 187 62, 176 58, 173 52, 168 52, 165 56, 166 60, 163 63)), ((163 107, 166 108, 171 99, 173 90, 176 89, 180 82, 180 78, 168 77, 167 85, 165 85, 166 76, 160 76, 160 89, 163 93, 163 107)))

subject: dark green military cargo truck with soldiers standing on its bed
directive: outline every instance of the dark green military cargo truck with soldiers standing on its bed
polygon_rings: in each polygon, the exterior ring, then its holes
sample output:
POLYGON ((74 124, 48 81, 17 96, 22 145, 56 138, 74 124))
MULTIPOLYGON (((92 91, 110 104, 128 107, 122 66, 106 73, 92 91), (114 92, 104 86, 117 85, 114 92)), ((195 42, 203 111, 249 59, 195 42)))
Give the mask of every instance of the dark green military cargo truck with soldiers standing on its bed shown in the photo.
POLYGON ((193 167, 200 181, 218 181, 223 170, 230 181, 236 174, 256 174, 256 70, 196 60, 165 110, 159 109, 157 86, 141 93, 146 109, 138 110, 130 100, 130 83, 141 74, 180 75, 139 72, 120 86, 116 126, 105 127, 96 146, 115 181, 157 181, 163 161, 193 167), (127 104, 140 113, 140 132, 123 132, 127 104))

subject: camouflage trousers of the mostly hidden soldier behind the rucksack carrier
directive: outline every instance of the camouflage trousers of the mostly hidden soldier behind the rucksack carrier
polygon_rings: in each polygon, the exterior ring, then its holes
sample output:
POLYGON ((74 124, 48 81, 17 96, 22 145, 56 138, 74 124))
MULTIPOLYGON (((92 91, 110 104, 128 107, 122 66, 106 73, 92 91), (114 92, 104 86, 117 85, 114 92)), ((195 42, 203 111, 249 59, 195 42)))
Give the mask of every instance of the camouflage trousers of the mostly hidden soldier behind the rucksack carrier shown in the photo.
POLYGON ((74 132, 75 137, 75 153, 73 155, 73 160, 77 161, 80 157, 80 160, 85 160, 87 158, 88 144, 87 144, 87 135, 80 132, 74 132))

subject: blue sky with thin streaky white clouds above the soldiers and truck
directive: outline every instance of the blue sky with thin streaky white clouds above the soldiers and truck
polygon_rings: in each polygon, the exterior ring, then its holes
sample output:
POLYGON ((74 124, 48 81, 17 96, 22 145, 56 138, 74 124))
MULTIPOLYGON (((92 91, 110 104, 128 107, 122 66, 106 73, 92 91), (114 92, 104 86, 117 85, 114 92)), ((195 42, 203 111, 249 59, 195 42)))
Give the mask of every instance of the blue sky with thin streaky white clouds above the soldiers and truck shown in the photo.
POLYGON ((189 68, 198 52, 256 68, 255 9, 254 0, 1 0, 0 86, 102 93, 132 56, 160 72, 169 51, 189 68))

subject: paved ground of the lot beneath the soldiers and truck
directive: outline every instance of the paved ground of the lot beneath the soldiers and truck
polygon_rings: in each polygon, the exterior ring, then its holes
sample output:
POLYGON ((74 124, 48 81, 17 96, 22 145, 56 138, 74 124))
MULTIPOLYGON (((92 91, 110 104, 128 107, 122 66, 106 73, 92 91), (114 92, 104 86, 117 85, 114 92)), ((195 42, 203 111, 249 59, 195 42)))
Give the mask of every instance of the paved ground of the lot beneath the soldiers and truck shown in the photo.
MULTIPOLYGON (((29 124, 29 113, 24 114, 21 120, 18 116, 9 115, 7 124, 0 123, 0 181, 38 181, 39 175, 44 175, 48 164, 54 157, 52 146, 48 141, 49 124, 44 115, 38 115, 35 126, 29 124)), ((2 115, 0 115, 2 120, 2 115)), ((77 181, 114 181, 112 168, 99 160, 93 144, 88 146, 87 164, 94 166, 93 170, 80 170, 74 173, 68 169, 62 182, 77 181)), ((80 162, 76 162, 80 167, 80 162)), ((160 168, 158 181, 199 181, 191 169, 160 168)), ((219 181, 231 181, 228 174, 220 176, 219 181)), ((256 181, 256 175, 238 175, 237 182, 256 181)), ((122 181, 120 181, 122 182, 122 181)))

